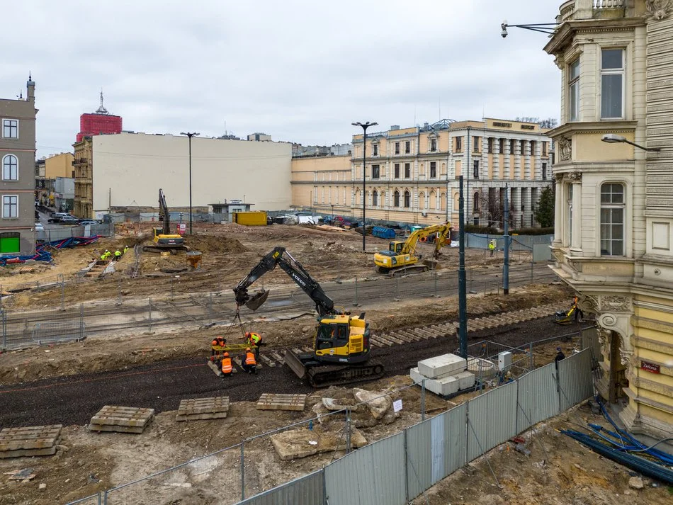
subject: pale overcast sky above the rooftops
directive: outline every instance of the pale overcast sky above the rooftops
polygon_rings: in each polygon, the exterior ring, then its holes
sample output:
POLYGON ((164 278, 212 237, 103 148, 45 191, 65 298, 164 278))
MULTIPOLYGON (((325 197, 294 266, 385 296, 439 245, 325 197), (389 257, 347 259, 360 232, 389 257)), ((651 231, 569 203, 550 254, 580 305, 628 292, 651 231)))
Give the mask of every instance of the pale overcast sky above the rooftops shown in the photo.
POLYGON ((560 0, 3 1, 0 96, 36 82, 38 157, 72 151, 79 115, 125 130, 266 132, 349 142, 440 118, 558 118, 560 72, 542 33, 560 0), (9 50, 11 48, 11 50, 9 50), (376 128, 379 130, 379 128, 376 128))

